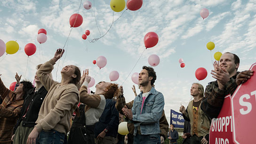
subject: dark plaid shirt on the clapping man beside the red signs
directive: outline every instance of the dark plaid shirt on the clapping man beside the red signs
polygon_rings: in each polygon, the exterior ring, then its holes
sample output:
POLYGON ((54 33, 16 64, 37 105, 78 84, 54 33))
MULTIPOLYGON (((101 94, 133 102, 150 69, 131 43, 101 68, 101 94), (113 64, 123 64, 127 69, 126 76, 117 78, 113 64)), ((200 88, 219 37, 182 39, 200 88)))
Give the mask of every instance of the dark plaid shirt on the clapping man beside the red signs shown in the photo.
POLYGON ((219 115, 224 97, 235 92, 237 88, 236 84, 236 76, 237 72, 234 76, 230 78, 230 80, 224 85, 224 90, 218 88, 218 83, 216 81, 210 82, 205 89, 205 97, 201 103, 201 109, 212 119, 217 118, 219 115))

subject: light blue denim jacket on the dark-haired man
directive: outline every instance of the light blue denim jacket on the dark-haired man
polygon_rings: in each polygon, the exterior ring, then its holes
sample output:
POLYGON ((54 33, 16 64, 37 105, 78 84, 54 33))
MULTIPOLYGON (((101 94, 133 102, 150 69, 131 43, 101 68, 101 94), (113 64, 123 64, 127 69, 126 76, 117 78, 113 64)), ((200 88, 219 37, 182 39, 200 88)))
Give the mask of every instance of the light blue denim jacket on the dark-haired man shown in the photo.
POLYGON ((132 107, 134 135, 136 136, 138 126, 142 135, 160 134, 159 120, 163 113, 164 96, 152 87, 141 112, 142 93, 135 97, 132 107))

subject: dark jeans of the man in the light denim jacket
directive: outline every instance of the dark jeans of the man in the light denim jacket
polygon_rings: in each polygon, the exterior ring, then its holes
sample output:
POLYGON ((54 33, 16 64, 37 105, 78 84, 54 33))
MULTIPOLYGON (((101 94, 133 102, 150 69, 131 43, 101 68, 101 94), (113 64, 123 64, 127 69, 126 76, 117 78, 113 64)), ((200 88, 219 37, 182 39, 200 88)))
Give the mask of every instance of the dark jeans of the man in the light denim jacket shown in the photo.
POLYGON ((161 144, 160 134, 134 136, 133 144, 161 144))

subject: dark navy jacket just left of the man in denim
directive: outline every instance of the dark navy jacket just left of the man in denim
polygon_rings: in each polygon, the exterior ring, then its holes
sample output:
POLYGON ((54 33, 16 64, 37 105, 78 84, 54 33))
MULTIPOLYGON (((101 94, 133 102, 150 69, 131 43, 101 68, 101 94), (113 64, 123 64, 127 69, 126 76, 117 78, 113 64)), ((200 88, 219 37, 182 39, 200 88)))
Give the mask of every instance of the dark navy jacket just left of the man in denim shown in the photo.
POLYGON ((108 130, 106 136, 117 136, 119 125, 119 112, 115 108, 114 99, 106 99, 105 109, 95 125, 95 137, 97 137, 105 128, 108 130))

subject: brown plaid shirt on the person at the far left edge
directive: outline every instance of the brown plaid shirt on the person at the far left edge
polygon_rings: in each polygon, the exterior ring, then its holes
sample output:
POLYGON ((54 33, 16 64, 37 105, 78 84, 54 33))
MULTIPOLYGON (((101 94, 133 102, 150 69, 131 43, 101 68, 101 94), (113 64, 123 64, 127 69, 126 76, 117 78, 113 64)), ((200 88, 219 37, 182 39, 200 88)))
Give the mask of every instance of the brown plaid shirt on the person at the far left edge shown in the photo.
POLYGON ((11 144, 13 128, 19 118, 24 100, 15 100, 13 91, 6 88, 0 78, 0 95, 3 103, 0 105, 0 144, 11 144))

